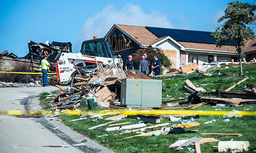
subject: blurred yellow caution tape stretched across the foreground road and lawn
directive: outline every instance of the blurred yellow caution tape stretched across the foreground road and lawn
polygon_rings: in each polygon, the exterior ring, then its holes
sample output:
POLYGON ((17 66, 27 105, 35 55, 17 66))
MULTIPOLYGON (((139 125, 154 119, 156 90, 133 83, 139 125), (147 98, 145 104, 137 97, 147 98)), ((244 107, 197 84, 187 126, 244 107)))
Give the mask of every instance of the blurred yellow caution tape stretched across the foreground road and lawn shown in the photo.
MULTIPOLYGON (((115 111, 117 112, 117 111, 115 111)), ((53 114, 54 111, 19 111, 19 110, 10 110, 10 111, 0 111, 0 114, 8 114, 8 115, 25 115, 25 114, 53 114)), ((80 111, 68 111, 68 115, 81 115, 86 113, 101 113, 106 114, 109 112, 104 111, 89 111, 89 112, 80 112, 80 111)), ((126 114, 126 115, 188 115, 188 114, 198 114, 198 115, 242 115, 242 116, 255 116, 256 112, 229 112, 229 111, 195 111, 195 110, 143 110, 143 111, 119 111, 120 114, 126 114)))

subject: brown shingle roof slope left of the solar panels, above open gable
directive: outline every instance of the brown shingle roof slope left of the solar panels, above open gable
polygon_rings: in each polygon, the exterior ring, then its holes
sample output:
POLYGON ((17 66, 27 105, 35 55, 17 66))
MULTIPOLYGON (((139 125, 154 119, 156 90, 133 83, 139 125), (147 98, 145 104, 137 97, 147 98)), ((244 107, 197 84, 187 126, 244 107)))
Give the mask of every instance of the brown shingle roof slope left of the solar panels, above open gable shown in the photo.
POLYGON ((125 33, 127 33, 129 36, 131 36, 133 39, 138 41, 138 43, 140 43, 141 45, 151 45, 152 42, 158 39, 157 36, 148 31, 145 27, 127 26, 123 24, 115 25, 123 30, 125 33))

